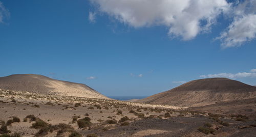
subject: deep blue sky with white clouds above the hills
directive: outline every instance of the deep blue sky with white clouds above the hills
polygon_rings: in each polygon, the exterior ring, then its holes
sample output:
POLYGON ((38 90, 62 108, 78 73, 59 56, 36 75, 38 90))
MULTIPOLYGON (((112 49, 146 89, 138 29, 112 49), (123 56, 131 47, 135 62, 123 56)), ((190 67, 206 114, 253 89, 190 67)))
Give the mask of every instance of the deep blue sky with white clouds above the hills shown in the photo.
POLYGON ((108 96, 152 95, 219 76, 256 85, 256 8, 244 6, 250 1, 211 4, 219 10, 191 13, 200 23, 191 26, 183 13, 147 12, 151 3, 138 9, 116 0, 0 2, 0 76, 41 74, 108 96), (170 14, 174 20, 166 19, 170 14))

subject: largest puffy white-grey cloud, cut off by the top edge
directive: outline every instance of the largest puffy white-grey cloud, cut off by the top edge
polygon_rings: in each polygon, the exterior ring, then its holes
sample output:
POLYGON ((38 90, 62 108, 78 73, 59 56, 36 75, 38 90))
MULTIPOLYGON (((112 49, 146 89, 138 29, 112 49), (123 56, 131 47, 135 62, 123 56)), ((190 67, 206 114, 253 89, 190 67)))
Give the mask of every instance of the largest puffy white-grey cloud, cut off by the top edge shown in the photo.
POLYGON ((208 32, 230 4, 225 0, 91 0, 100 12, 134 28, 165 25, 170 37, 193 39, 208 32))

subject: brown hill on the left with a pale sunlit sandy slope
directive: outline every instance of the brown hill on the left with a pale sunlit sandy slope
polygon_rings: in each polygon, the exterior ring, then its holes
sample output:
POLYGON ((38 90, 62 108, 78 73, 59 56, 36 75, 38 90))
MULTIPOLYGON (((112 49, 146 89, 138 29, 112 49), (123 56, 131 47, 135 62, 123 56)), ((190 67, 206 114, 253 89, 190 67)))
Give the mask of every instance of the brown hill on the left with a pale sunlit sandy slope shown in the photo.
POLYGON ((0 89, 47 95, 109 99, 87 85, 56 80, 37 74, 15 74, 0 77, 0 89))

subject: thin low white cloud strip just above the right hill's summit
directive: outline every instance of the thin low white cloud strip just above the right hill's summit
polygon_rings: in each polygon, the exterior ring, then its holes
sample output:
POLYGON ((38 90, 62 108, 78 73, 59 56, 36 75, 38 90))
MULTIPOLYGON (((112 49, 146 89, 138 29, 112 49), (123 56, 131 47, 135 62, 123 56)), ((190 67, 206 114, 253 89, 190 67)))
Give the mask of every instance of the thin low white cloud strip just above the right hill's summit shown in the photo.
POLYGON ((239 72, 239 73, 219 73, 219 74, 208 74, 200 75, 202 78, 211 78, 211 77, 226 77, 226 78, 243 78, 243 77, 256 77, 256 69, 250 70, 251 72, 239 72))

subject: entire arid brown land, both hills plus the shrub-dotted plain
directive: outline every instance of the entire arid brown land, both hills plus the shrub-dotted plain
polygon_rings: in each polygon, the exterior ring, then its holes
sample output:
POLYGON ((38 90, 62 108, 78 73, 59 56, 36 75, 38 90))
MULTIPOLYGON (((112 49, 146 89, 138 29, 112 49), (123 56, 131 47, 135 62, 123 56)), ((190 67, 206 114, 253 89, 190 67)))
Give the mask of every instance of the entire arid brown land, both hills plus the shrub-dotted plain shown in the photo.
POLYGON ((0 89, 1 137, 256 134, 256 87, 227 78, 193 80, 135 102, 34 74, 0 77, 0 89))

